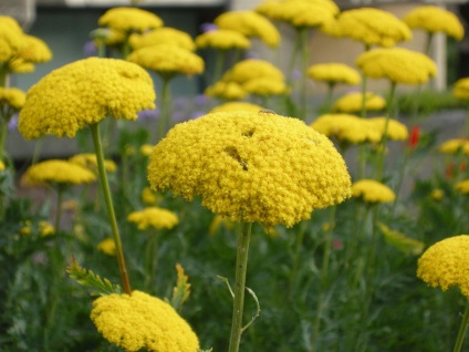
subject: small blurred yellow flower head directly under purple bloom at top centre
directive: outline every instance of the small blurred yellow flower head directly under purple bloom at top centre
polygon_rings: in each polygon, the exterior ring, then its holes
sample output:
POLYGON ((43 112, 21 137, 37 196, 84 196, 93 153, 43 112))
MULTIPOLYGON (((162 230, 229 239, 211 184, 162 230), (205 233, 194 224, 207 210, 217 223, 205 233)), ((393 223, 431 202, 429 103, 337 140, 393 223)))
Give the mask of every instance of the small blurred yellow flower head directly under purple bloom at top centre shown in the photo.
POLYGON ((212 48, 218 50, 249 49, 251 42, 240 32, 219 29, 197 35, 196 46, 198 49, 212 48))

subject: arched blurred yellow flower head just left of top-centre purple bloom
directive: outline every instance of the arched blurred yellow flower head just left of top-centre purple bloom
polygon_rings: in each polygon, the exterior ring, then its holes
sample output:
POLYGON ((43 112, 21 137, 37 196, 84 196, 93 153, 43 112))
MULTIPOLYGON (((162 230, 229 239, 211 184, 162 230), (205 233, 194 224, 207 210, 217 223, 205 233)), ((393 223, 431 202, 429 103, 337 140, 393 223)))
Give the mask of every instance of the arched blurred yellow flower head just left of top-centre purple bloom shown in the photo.
POLYGON ((129 38, 129 43, 134 50, 159 44, 174 44, 190 51, 196 50, 196 43, 188 33, 170 27, 157 28, 143 34, 134 33, 129 38))

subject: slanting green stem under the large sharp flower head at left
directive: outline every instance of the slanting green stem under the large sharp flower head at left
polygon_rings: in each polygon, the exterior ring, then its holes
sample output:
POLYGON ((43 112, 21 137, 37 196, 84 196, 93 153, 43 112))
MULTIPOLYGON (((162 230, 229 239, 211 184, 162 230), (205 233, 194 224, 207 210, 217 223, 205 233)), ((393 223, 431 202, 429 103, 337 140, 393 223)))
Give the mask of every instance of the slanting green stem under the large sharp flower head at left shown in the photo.
POLYGON ((111 190, 110 190, 110 183, 107 182, 107 174, 106 174, 106 169, 104 168, 104 155, 103 155, 103 148, 101 144, 100 125, 92 124, 90 125, 90 128, 93 135, 93 144, 94 144, 94 149, 96 153, 100 182, 102 185, 104 199, 106 201, 114 242, 116 245, 116 255, 117 255, 118 268, 121 271, 121 279, 122 279, 122 283, 123 283, 125 292, 127 294, 131 294, 132 293, 131 283, 128 280, 127 268, 125 266, 124 251, 122 248, 121 236, 117 228, 116 215, 114 213, 114 206, 113 206, 113 200, 112 200, 111 190))

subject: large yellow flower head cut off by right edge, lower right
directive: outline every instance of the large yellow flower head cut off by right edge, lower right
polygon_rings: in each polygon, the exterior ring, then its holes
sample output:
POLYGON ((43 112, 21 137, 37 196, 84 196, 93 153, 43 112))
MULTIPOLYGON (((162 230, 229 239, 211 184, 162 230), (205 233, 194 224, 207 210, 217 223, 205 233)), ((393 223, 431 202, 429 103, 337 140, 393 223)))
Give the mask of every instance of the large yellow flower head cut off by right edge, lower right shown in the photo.
POLYGON ((446 291, 458 287, 469 298, 469 235, 440 240, 418 259, 417 277, 428 286, 446 291))

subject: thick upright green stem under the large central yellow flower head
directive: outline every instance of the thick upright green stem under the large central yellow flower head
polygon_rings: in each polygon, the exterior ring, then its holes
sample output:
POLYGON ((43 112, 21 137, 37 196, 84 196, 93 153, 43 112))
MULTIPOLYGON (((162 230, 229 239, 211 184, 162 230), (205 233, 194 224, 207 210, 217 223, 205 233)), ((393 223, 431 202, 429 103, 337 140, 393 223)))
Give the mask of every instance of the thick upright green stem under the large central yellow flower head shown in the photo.
POLYGON ((248 269, 249 240, 251 238, 252 222, 240 220, 240 234, 238 238, 238 251, 236 260, 236 283, 233 312, 231 322, 231 335, 229 352, 238 352, 242 333, 242 313, 244 309, 246 272, 248 269))

